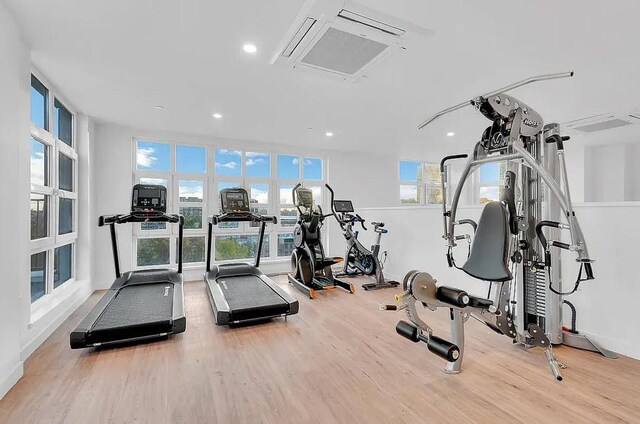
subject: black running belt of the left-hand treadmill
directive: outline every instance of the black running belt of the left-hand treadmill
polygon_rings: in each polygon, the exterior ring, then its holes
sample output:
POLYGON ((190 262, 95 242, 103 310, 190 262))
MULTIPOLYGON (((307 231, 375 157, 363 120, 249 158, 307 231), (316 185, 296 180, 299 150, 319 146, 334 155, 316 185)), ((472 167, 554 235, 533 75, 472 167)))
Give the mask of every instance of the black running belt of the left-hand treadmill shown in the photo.
POLYGON ((173 283, 125 286, 94 323, 91 338, 113 340, 168 332, 172 316, 173 283))

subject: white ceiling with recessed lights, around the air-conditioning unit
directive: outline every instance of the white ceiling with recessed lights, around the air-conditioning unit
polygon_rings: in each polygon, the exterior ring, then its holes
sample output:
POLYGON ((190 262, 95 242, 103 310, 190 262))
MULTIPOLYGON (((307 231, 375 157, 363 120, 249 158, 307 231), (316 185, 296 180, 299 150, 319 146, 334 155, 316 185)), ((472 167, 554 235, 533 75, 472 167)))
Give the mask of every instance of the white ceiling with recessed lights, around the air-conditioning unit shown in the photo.
MULTIPOLYGON (((302 0, 0 1, 22 25, 35 66, 78 109, 139 128, 400 154, 459 150, 486 126, 471 109, 423 131, 418 123, 483 92, 567 70, 576 76, 513 94, 547 122, 640 109, 634 0, 361 0, 434 35, 357 84, 269 64, 302 0), (247 41, 255 56, 242 51, 247 41)), ((629 141, 639 129, 604 138, 629 141)))

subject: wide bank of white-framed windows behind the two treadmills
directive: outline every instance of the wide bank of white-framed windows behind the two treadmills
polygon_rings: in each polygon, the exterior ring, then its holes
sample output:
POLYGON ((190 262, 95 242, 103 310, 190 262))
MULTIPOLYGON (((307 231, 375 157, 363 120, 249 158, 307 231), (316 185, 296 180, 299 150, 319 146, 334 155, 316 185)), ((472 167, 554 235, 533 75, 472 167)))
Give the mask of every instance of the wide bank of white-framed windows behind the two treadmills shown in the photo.
MULTIPOLYGON (((251 209, 275 215, 278 225, 267 225, 262 256, 289 256, 296 209, 291 189, 304 181, 321 202, 323 161, 265 151, 240 151, 221 147, 186 146, 150 140, 135 142, 136 181, 167 187, 169 210, 185 216, 184 262, 205 261, 207 217, 219 210, 220 190, 244 187, 251 209)), ((138 267, 176 263, 177 228, 143 224, 134 230, 138 267)), ((214 228, 212 259, 247 259, 256 255, 259 224, 221 223, 214 228)))

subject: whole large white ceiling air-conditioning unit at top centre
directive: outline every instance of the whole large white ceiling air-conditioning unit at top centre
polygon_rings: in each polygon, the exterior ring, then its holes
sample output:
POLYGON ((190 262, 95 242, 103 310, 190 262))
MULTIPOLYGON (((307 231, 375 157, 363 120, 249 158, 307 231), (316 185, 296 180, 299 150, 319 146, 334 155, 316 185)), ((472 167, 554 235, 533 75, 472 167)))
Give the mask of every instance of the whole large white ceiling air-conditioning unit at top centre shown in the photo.
POLYGON ((307 0, 273 65, 357 81, 431 31, 349 0, 307 0))

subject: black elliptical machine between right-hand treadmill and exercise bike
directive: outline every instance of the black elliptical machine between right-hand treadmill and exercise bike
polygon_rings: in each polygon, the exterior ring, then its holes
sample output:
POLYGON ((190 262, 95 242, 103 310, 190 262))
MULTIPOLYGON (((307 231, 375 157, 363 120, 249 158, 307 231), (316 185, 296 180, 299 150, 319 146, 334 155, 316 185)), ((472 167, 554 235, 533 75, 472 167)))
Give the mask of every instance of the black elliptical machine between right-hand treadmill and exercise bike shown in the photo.
MULTIPOLYGON (((326 187, 333 204, 333 190, 328 184, 326 187)), ((316 297, 317 290, 335 287, 354 293, 356 289, 353 284, 336 279, 331 271, 331 266, 342 262, 342 258, 324 255, 320 229, 325 218, 334 214, 323 215, 320 205, 314 207, 311 189, 302 187, 301 183, 293 188, 293 202, 298 209, 298 222, 293 229, 295 248, 291 252, 289 283, 307 293, 311 299, 316 297)))

